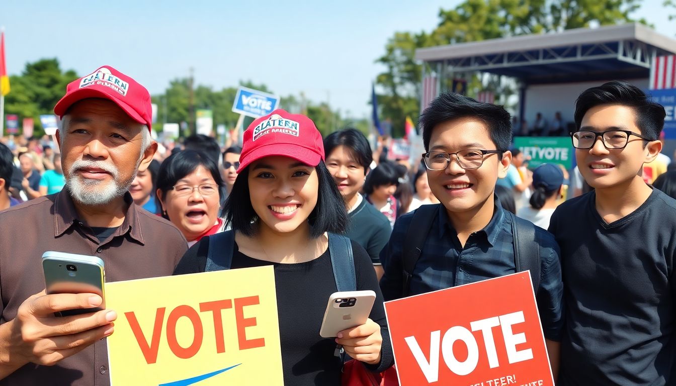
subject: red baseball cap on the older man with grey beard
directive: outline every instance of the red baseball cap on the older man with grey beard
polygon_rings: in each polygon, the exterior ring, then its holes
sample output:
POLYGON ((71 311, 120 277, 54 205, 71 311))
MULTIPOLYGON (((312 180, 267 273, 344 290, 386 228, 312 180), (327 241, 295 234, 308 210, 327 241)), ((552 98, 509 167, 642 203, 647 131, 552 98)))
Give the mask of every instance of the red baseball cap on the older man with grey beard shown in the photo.
POLYGON ((109 99, 130 118, 145 124, 150 130, 153 116, 150 93, 136 80, 111 66, 99 67, 95 72, 68 83, 66 95, 54 106, 54 114, 64 118, 68 107, 86 98, 109 99))

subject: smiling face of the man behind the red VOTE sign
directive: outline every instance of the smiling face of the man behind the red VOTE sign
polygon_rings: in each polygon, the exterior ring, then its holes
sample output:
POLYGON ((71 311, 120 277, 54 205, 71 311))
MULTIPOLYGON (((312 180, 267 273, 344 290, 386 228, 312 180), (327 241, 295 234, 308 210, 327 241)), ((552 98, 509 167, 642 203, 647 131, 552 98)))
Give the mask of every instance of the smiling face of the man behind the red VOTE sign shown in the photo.
MULTIPOLYGON (((460 118, 435 126, 429 151, 455 153, 465 149, 496 149, 483 122, 475 118, 460 118)), ((450 213, 478 210, 489 199, 492 205, 496 181, 498 177, 505 176, 510 158, 508 151, 502 161, 498 159, 498 154, 487 154, 481 167, 465 170, 458 164, 456 156, 451 155, 451 162, 444 170, 427 170, 429 188, 450 213)))

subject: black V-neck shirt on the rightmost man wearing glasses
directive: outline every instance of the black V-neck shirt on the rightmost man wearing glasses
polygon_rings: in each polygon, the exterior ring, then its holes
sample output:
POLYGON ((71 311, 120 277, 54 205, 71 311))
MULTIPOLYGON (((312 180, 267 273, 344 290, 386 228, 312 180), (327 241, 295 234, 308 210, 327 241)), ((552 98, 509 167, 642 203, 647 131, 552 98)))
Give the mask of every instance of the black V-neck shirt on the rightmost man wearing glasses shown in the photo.
POLYGON ((567 311, 557 385, 671 385, 676 200, 654 189, 610 224, 595 203, 566 201, 550 222, 567 311))

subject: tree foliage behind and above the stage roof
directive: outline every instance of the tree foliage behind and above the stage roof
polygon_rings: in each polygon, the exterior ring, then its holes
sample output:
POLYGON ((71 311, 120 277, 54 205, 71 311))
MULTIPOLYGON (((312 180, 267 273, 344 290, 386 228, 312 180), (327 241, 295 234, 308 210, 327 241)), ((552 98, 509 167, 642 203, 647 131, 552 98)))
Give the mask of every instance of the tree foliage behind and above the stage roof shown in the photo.
MULTIPOLYGON (((665 5, 673 5, 676 0, 665 1, 669 3, 665 5)), ((385 67, 376 78, 381 120, 391 119, 396 136, 403 134, 406 116, 417 119, 422 76, 422 68, 414 60, 418 48, 593 25, 646 23, 630 16, 640 3, 640 0, 465 0, 453 9, 440 9, 437 27, 431 32, 395 32, 385 43, 385 53, 376 60, 385 67)), ((498 76, 474 74, 467 80, 468 95, 472 97, 475 90, 484 89, 495 92, 496 97, 502 96, 500 100, 504 103, 514 93, 512 85, 498 76)))

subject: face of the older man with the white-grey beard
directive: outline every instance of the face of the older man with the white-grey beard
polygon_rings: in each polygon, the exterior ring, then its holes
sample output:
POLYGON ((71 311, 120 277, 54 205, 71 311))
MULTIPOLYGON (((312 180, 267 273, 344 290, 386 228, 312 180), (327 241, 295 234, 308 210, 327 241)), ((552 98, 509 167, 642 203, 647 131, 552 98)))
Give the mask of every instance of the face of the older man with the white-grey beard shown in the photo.
POLYGON ((157 149, 152 143, 141 156, 142 128, 107 99, 83 99, 70 107, 64 138, 57 132, 57 141, 66 186, 75 201, 97 206, 126 193, 157 149))

